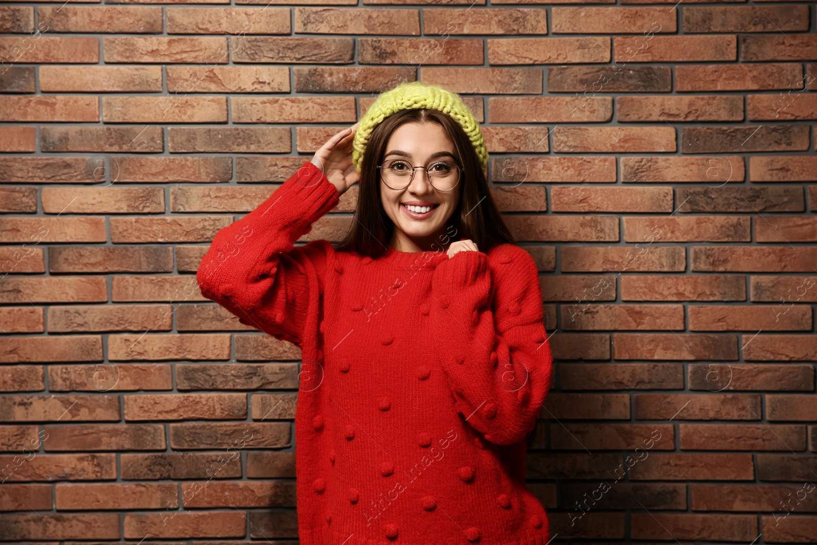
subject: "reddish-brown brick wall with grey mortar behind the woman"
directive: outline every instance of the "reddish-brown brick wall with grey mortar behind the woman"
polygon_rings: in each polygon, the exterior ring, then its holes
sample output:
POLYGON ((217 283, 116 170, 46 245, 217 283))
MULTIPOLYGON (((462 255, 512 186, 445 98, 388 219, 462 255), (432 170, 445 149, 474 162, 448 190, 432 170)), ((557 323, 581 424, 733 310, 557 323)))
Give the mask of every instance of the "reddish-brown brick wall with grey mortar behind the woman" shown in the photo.
POLYGON ((542 271, 556 540, 813 542, 813 2, 170 2, 0 5, 0 541, 297 538, 300 354, 194 272, 416 78, 542 271))

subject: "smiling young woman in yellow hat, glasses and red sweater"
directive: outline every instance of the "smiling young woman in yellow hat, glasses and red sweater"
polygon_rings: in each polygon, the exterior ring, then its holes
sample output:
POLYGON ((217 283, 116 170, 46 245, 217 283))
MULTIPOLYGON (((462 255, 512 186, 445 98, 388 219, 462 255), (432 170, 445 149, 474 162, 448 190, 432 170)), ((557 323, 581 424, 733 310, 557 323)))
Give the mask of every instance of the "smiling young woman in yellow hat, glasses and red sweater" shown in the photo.
POLYGON ((493 203, 487 160, 459 96, 400 84, 203 259, 204 297, 301 347, 302 545, 550 538, 525 486, 551 382, 542 294, 493 203), (352 185, 346 238, 294 246, 352 185))

